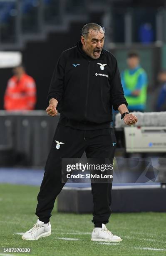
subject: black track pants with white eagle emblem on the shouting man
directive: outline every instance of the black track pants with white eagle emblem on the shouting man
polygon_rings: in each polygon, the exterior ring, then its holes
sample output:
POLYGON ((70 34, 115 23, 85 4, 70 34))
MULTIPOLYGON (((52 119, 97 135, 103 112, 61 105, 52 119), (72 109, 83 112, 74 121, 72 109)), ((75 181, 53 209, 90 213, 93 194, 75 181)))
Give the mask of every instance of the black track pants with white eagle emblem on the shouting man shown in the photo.
MULTIPOLYGON (((36 215, 48 223, 55 199, 61 192, 62 158, 81 158, 84 151, 87 158, 114 158, 116 138, 112 128, 84 131, 59 124, 52 141, 50 154, 45 165, 45 173, 37 196, 36 215), (59 149, 55 141, 63 142, 59 149)), ((111 214, 110 183, 92 183, 94 202, 93 223, 108 223, 111 214)))

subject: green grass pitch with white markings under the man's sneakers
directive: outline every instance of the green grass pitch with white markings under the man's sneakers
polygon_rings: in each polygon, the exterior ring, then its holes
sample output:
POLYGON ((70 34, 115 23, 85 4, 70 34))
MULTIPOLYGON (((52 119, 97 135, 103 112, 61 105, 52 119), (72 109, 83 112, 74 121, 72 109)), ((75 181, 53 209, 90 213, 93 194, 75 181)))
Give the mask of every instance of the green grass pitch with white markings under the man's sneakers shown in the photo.
POLYGON ((32 249, 31 253, 12 255, 166 255, 166 213, 113 213, 107 228, 121 236, 122 242, 99 243, 90 241, 92 215, 58 213, 55 205, 50 219, 52 235, 23 241, 17 233, 24 233, 36 222, 38 191, 39 187, 0 184, 0 247, 32 249))

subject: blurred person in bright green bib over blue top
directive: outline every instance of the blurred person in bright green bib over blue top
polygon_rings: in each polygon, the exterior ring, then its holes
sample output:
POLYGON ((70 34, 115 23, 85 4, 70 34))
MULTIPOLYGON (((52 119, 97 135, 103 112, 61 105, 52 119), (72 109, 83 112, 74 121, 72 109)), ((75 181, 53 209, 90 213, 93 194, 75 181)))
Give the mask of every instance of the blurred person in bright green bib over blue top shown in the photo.
POLYGON ((139 55, 130 52, 127 56, 128 69, 121 73, 121 83, 130 112, 144 112, 147 96, 147 74, 140 66, 139 55))

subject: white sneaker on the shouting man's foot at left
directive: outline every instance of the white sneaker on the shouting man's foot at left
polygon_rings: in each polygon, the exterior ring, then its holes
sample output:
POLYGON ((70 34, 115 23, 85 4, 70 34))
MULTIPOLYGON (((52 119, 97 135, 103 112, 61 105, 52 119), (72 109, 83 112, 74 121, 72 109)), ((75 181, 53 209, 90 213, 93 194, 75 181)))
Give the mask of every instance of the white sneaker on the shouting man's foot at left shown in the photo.
POLYGON ((47 224, 44 224, 44 222, 37 220, 37 223, 33 225, 33 228, 25 232, 25 234, 22 236, 23 240, 38 240, 41 237, 44 236, 50 236, 51 235, 51 224, 50 222, 47 224))

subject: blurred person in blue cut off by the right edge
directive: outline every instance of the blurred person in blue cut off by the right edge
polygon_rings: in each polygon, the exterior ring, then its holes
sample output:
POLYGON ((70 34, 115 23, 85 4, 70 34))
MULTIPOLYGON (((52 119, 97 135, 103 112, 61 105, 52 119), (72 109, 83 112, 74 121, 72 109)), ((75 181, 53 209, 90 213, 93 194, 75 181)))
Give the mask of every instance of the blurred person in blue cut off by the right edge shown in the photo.
POLYGON ((158 74, 159 91, 157 93, 156 111, 166 111, 166 70, 158 74))

